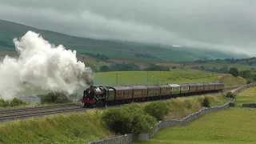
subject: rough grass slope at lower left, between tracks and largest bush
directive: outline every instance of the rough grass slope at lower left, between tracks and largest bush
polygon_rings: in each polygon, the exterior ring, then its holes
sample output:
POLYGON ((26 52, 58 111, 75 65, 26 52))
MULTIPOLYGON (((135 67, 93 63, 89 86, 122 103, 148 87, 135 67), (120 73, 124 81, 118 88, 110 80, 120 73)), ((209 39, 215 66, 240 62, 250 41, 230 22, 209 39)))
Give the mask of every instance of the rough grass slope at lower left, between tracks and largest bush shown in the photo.
POLYGON ((59 114, 0 125, 1 143, 85 143, 112 134, 100 122, 100 111, 59 114))

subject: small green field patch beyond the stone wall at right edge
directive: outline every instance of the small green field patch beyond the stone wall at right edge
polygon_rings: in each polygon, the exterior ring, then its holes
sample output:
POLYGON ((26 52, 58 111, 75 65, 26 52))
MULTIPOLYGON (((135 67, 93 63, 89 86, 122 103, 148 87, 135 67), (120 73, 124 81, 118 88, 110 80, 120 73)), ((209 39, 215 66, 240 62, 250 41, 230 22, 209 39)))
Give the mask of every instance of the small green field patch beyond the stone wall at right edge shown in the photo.
POLYGON ((242 106, 242 103, 256 102, 256 86, 239 93, 235 102, 236 106, 242 106))

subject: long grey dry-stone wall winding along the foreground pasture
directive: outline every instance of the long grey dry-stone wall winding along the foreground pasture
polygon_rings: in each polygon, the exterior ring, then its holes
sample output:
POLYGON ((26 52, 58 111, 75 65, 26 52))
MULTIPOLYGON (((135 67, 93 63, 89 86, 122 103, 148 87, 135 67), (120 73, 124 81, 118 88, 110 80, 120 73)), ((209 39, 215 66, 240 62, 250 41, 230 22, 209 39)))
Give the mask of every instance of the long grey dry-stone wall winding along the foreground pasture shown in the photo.
MULTIPOLYGON (((242 90, 246 90, 250 86, 255 86, 256 82, 250 83, 249 85, 242 86, 234 90, 234 94, 238 94, 242 90)), ((200 118, 202 115, 209 114, 212 112, 217 112, 220 110, 225 110, 230 107, 230 105, 234 105, 234 100, 231 102, 227 102, 224 106, 215 106, 215 107, 210 107, 206 108, 203 107, 201 110, 194 114, 190 114, 186 116, 185 118, 182 118, 181 120, 178 119, 169 119, 169 120, 164 120, 158 122, 158 124, 152 129, 152 133, 150 134, 125 134, 122 136, 114 137, 114 138, 107 138, 107 139, 102 139, 94 142, 88 142, 88 144, 129 144, 132 142, 137 142, 137 141, 143 141, 150 139, 151 137, 154 136, 158 131, 169 127, 169 126, 184 126, 187 123, 200 118)))

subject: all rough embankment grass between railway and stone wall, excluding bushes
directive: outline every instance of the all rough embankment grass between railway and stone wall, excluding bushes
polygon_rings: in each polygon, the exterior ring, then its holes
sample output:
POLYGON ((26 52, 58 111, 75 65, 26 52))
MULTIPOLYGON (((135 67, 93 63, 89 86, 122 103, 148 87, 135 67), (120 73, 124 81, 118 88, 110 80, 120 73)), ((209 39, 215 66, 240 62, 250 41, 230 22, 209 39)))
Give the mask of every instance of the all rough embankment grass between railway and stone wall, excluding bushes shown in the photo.
MULTIPOLYGON (((210 105, 222 105, 228 101, 222 94, 208 94, 210 105)), ((166 118, 183 118, 202 108, 204 96, 177 98, 166 101, 170 113, 166 118)), ((142 103, 140 106, 145 106, 142 103)), ((101 121, 104 110, 88 110, 77 114, 59 114, 46 118, 29 118, 0 124, 0 142, 13 143, 86 143, 114 134, 101 121)))

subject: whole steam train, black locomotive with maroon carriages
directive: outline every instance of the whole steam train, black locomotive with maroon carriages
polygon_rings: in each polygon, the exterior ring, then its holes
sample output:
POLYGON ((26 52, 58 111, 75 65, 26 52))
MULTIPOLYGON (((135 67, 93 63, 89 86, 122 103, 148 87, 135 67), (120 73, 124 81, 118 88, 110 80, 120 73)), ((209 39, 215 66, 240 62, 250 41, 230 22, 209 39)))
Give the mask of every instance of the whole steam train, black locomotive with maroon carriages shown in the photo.
POLYGON ((110 106, 130 102, 145 102, 195 94, 209 94, 224 89, 222 82, 183 83, 141 86, 90 86, 83 91, 84 107, 110 106))

